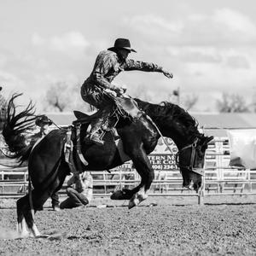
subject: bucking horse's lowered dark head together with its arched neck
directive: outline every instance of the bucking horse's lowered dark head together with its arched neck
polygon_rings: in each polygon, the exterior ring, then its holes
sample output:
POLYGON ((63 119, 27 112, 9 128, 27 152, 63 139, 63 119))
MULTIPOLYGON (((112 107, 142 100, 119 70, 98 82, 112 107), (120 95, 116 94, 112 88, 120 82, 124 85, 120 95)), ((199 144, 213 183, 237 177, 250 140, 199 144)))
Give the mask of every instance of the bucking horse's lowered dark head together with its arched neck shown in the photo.
MULTIPOLYGON (((164 137, 170 137, 178 148, 178 162, 183 176, 183 186, 198 190, 207 144, 213 137, 206 137, 198 130, 198 122, 183 108, 171 102, 155 105, 136 99, 140 108, 160 127, 164 137)), ((177 158, 176 158, 177 159, 177 158)))

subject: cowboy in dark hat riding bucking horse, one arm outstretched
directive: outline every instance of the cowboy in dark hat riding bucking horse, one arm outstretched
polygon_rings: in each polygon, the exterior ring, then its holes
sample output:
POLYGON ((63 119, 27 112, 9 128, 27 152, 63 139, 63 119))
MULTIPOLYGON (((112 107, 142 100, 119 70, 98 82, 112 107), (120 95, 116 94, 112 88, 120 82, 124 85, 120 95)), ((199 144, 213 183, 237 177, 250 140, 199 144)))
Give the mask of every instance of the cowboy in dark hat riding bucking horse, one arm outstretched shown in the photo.
POLYGON ((124 87, 111 84, 113 79, 122 71, 140 70, 144 72, 163 73, 167 78, 172 79, 172 73, 167 72, 163 67, 154 63, 134 61, 128 59, 131 52, 137 52, 131 48, 130 41, 125 38, 115 40, 114 46, 108 50, 102 50, 96 57, 90 77, 84 81, 81 87, 81 96, 84 102, 98 108, 101 113, 90 125, 88 139, 97 145, 103 145, 101 138, 102 125, 108 124, 108 118, 116 97, 125 93, 124 87))

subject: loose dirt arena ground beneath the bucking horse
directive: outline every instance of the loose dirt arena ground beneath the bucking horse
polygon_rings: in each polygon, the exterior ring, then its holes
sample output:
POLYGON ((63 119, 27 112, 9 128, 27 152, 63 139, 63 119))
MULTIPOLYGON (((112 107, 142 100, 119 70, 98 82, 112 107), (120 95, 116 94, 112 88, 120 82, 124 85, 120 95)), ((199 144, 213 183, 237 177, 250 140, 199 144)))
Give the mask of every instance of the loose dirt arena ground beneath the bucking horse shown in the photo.
MULTIPOLYGON (((48 238, 15 236, 15 202, 0 201, 0 255, 256 255, 256 197, 96 199, 90 207, 53 212, 36 224, 48 238)), ((47 202, 49 204, 49 202, 47 202)))

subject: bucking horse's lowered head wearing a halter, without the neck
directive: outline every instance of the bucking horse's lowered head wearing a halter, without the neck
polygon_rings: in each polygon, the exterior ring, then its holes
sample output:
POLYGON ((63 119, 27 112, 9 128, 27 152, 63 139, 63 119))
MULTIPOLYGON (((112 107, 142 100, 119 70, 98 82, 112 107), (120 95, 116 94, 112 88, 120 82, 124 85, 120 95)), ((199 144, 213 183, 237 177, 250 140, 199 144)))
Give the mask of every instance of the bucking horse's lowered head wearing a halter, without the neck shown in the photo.
POLYGON ((178 166, 183 176, 183 187, 188 189, 201 188, 201 177, 204 174, 205 154, 211 137, 200 135, 195 137, 194 142, 181 148, 177 155, 178 166))

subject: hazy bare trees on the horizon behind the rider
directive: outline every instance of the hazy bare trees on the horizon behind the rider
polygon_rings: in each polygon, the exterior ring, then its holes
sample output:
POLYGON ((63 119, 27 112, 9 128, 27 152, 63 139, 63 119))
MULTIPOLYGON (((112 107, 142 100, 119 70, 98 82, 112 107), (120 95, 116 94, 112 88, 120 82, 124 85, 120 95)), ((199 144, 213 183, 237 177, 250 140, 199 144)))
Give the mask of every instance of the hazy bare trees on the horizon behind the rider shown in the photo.
MULTIPOLYGON (((150 102, 152 99, 143 89, 143 85, 138 87, 133 95, 144 101, 150 102)), ((193 110, 199 97, 195 93, 191 95, 181 95, 180 90, 173 90, 167 94, 166 99, 169 102, 176 103, 186 110, 193 110)), ((220 113, 249 113, 256 112, 256 99, 247 103, 246 99, 238 94, 223 93, 221 98, 216 101, 216 108, 220 113)), ((84 102, 80 97, 80 84, 68 85, 65 82, 52 84, 46 91, 44 99, 44 111, 65 112, 73 109, 90 112, 91 106, 84 102)), ((204 111, 202 109, 202 111, 204 111)))

